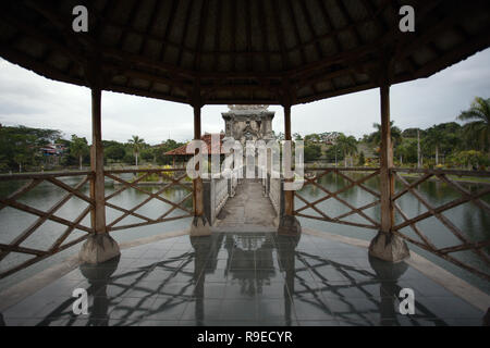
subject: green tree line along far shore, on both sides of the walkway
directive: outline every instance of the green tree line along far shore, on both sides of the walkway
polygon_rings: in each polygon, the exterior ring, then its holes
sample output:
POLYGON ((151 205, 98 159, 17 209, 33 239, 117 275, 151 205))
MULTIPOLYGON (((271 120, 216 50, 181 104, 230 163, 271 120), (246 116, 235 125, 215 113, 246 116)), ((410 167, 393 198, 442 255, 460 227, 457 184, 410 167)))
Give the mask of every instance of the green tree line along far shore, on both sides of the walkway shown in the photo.
MULTIPOLYGON (((391 139, 396 166, 485 169, 490 165, 490 99, 475 98, 470 108, 455 121, 432 127, 402 130, 391 123, 391 139)), ((278 140, 284 134, 275 135, 278 140)), ((306 162, 328 162, 343 166, 379 165, 381 125, 375 123, 373 132, 356 139, 336 132, 308 134, 295 133, 293 138, 304 140, 306 162)), ((126 142, 103 140, 106 164, 138 165, 143 162, 158 165, 171 164, 167 151, 184 142, 168 139, 150 146, 137 135, 126 142)), ((50 167, 79 167, 89 165, 89 146, 84 137, 72 135, 65 139, 60 130, 24 126, 0 126, 0 172, 39 170, 50 167), (40 149, 57 144, 60 156, 46 156, 40 149)))

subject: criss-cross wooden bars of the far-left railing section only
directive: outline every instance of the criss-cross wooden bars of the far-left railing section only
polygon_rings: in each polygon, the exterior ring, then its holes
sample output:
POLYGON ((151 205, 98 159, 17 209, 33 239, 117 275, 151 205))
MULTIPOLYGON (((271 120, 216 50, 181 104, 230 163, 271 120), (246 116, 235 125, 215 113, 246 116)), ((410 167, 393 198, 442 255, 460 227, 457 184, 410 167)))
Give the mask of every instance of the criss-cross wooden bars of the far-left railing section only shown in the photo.
POLYGON ((9 244, 0 244, 0 262, 4 260, 11 252, 32 256, 30 259, 20 262, 10 269, 7 269, 0 273, 0 278, 3 278, 12 273, 21 271, 47 257, 53 256, 62 250, 65 250, 88 237, 89 233, 93 233, 91 227, 82 225, 82 221, 87 216, 94 207, 94 200, 82 192, 82 189, 93 177, 93 172, 71 172, 71 173, 50 173, 50 174, 17 174, 17 175, 3 175, 0 176, 0 182, 22 182, 26 183, 17 190, 9 195, 8 197, 0 197, 0 211, 7 207, 20 210, 24 213, 37 216, 29 226, 22 231, 9 244), (73 177, 82 176, 82 181, 74 187, 60 181, 60 177, 73 177), (40 210, 29 204, 20 201, 26 194, 39 186, 39 184, 48 182, 52 185, 63 189, 66 194, 57 201, 52 207, 47 210, 40 210), (82 210, 82 212, 74 219, 68 220, 57 215, 56 213, 73 197, 79 198, 87 202, 88 206, 82 210), (27 240, 39 227, 46 222, 51 221, 58 224, 64 225, 66 228, 64 232, 51 244, 47 250, 40 250, 36 248, 24 247, 22 244, 27 240), (66 238, 75 231, 79 229, 86 232, 86 235, 77 237, 73 240, 64 243, 66 238), (64 244, 63 244, 64 243, 64 244))

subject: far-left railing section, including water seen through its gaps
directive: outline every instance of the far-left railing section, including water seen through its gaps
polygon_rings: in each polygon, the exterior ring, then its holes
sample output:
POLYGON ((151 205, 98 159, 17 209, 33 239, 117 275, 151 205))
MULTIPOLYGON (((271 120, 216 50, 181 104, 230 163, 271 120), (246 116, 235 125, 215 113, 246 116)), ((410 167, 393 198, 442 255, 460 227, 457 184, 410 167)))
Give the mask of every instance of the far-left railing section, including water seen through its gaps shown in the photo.
POLYGON ((94 207, 93 178, 89 171, 0 175, 0 278, 94 232, 88 219, 94 207))

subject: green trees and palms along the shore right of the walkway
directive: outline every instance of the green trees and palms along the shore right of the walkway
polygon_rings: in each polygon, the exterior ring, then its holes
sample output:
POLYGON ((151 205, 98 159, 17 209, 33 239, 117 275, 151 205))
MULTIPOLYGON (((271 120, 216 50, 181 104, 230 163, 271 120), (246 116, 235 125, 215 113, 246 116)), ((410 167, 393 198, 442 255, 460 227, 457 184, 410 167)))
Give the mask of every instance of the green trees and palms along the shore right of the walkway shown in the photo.
MULTIPOLYGON (((396 166, 485 169, 490 165, 490 99, 475 98, 470 108, 455 121, 432 127, 402 130, 391 122, 391 140, 396 166)), ((305 141, 307 162, 343 162, 344 166, 379 165, 381 125, 356 139, 342 133, 322 144, 329 134, 309 134, 295 139, 305 141)))

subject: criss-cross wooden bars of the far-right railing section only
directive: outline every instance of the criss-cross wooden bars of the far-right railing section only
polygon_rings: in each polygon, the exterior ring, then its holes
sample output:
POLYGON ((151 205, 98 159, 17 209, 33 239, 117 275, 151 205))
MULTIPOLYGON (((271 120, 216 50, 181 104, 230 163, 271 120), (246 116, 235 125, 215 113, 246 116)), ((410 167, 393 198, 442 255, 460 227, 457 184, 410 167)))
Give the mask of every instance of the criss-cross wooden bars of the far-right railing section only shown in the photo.
POLYGON ((482 209, 486 213, 490 213, 490 206, 485 202, 481 198, 485 196, 490 197, 490 186, 485 185, 482 188, 478 189, 475 192, 463 187, 460 183, 451 179, 449 175, 457 175, 457 176, 468 176, 468 177, 490 177, 490 172, 466 172, 466 171, 434 171, 434 170, 399 170, 392 169, 392 175, 394 178, 403 185, 403 188, 395 192, 392 196, 392 204, 396 212, 403 219, 403 222, 393 226, 393 233, 401 238, 406 239, 407 241, 420 247, 429 252, 432 252, 471 273, 475 273, 483 278, 490 279, 490 274, 488 273, 490 266, 490 258, 485 248, 490 247, 490 240, 481 240, 481 241, 471 241, 466 236, 461 228, 458 228, 450 219, 448 219, 443 212, 462 206, 464 203, 473 202, 478 208, 482 209), (415 173, 420 175, 412 183, 409 183, 405 177, 401 176, 401 173, 415 173), (422 183, 436 178, 442 183, 445 183, 449 187, 453 188, 457 191, 461 197, 456 198, 450 202, 446 202, 439 207, 433 207, 424 196, 417 190, 417 187, 422 183), (409 219, 401 209, 397 200, 406 194, 412 194, 426 209, 427 211, 418 214, 412 219, 409 219), (426 219, 434 216, 439 222, 442 223, 460 241, 461 245, 438 248, 430 239, 429 236, 422 233, 420 228, 416 225, 416 223, 421 222, 426 219), (407 236, 402 232, 402 228, 409 226, 414 233, 420 238, 421 241, 415 240, 414 238, 407 236), (487 265, 487 272, 482 270, 478 270, 475 266, 469 265, 466 262, 463 262, 456 258, 454 258, 451 253, 457 251, 470 250, 474 252, 479 259, 481 259, 487 265))

